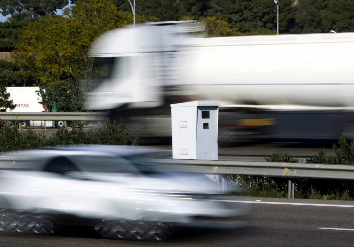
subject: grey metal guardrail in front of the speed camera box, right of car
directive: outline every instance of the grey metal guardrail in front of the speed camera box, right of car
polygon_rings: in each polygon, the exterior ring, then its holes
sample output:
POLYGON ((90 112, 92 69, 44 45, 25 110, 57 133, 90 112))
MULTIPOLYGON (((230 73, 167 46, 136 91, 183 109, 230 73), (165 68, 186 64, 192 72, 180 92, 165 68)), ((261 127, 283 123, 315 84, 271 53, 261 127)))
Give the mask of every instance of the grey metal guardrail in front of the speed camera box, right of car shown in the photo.
POLYGON ((189 171, 215 175, 249 175, 289 179, 289 198, 294 198, 294 178, 354 180, 354 166, 308 163, 206 161, 186 159, 145 159, 169 171, 189 171))

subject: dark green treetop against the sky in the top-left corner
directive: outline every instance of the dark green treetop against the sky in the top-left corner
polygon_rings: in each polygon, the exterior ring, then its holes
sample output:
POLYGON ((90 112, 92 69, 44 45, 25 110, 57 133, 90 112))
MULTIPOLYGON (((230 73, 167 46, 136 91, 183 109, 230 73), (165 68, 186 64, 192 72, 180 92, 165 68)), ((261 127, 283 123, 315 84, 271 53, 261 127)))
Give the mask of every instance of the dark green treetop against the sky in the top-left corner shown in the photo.
POLYGON ((1 0, 0 13, 10 14, 13 20, 28 20, 55 14, 69 4, 69 0, 1 0))

